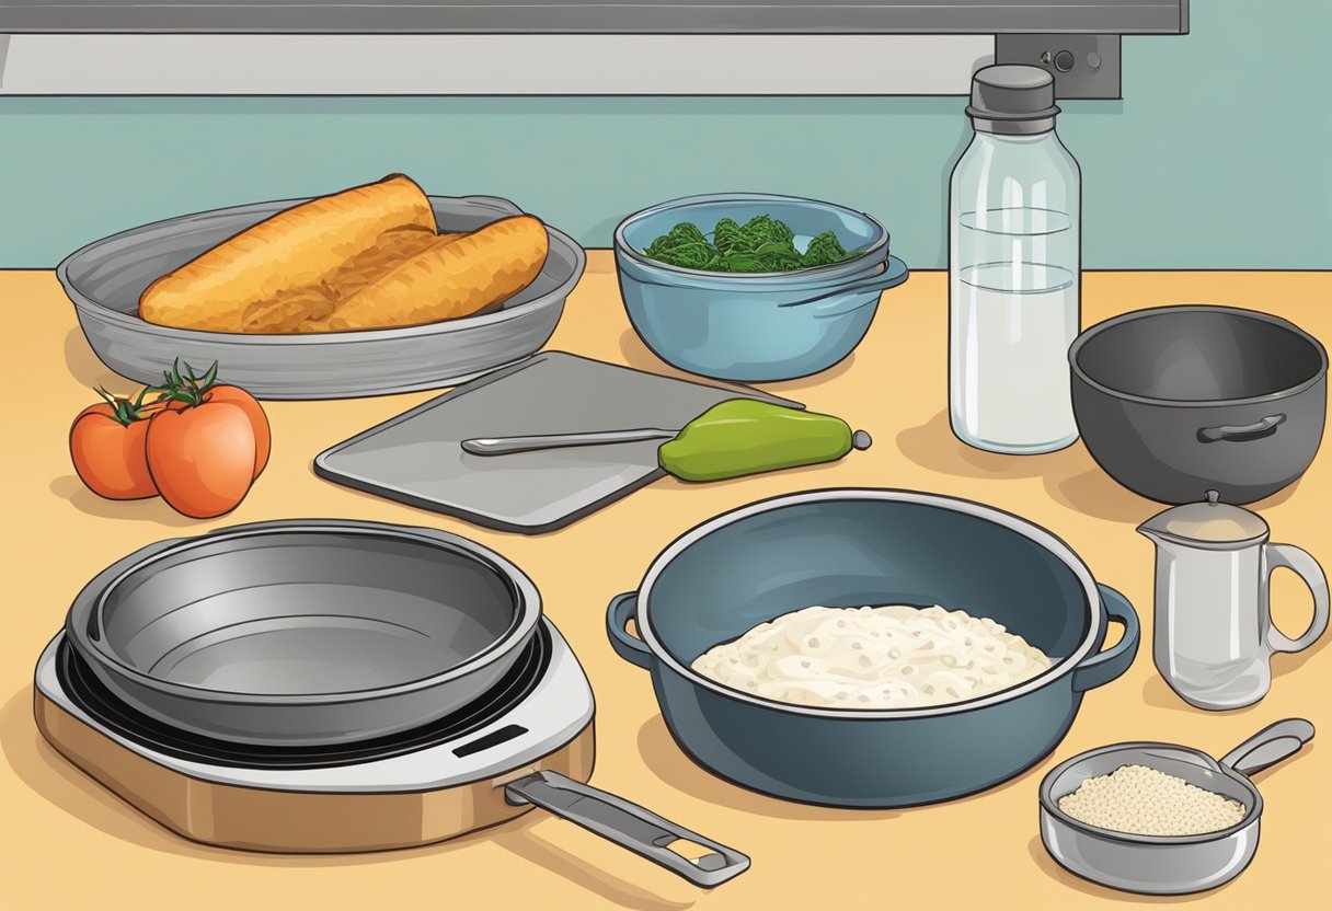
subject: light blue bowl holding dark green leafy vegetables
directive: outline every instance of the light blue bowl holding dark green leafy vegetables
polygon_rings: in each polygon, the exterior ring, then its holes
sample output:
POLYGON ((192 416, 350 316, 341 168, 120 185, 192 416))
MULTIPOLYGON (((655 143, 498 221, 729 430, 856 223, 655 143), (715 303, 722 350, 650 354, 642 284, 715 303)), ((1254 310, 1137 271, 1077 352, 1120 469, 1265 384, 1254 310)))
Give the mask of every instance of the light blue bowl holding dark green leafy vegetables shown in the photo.
POLYGON ((619 293, 638 337, 659 358, 689 373, 734 382, 795 380, 826 370, 860 344, 880 292, 907 280, 888 256, 888 232, 860 212, 831 202, 763 193, 691 196, 637 212, 615 228, 619 293), (803 250, 832 230, 843 262, 794 272, 702 272, 643 254, 681 221, 709 230, 719 218, 745 224, 770 214, 795 232, 803 250))

